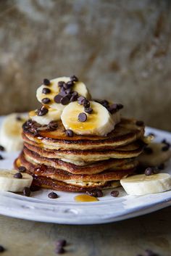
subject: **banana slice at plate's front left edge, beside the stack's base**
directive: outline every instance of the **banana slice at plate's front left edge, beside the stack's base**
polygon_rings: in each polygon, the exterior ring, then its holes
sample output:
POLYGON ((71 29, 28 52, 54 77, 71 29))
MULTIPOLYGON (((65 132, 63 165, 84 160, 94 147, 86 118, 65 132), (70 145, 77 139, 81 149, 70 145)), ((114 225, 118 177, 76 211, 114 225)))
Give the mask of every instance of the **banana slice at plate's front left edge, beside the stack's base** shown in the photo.
POLYGON ((33 177, 28 173, 22 173, 22 178, 14 178, 17 170, 0 169, 0 191, 21 192, 25 186, 30 187, 33 177))

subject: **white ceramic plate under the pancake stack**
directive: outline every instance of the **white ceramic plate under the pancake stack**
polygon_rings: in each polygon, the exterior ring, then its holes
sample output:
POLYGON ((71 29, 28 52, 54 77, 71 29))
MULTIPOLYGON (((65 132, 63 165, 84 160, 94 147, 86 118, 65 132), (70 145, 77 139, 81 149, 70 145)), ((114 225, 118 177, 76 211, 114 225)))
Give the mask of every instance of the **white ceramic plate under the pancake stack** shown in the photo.
MULTIPOLYGON (((1 118, 0 118, 1 121, 1 118)), ((171 142, 171 133, 146 128, 146 133, 155 133, 156 141, 167 139, 171 142)), ((0 168, 12 168, 19 153, 2 153, 4 160, 0 168)), ((171 174, 171 161, 164 172, 171 174)), ((120 188, 120 197, 110 196, 111 190, 104 191, 99 202, 74 201, 77 193, 58 191, 58 199, 49 199, 49 190, 42 189, 32 193, 32 197, 23 197, 11 192, 0 193, 0 214, 26 220, 36 220, 63 224, 95 224, 125 220, 143 215, 171 205, 171 191, 146 196, 128 196, 120 188)))

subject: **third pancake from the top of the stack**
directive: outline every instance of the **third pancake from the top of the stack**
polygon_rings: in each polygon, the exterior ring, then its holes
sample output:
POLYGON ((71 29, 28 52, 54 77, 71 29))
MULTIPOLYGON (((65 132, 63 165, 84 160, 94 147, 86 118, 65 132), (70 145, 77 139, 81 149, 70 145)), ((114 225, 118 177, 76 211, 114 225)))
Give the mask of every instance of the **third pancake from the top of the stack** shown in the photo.
POLYGON ((137 165, 137 161, 133 158, 131 159, 109 159, 104 161, 93 162, 87 165, 74 165, 70 162, 64 162, 59 159, 54 158, 46 158, 43 157, 36 152, 30 151, 26 147, 24 147, 23 152, 25 154, 25 159, 28 162, 33 162, 33 164, 43 164, 47 166, 51 166, 56 169, 66 170, 69 173, 73 174, 95 174, 101 173, 104 170, 114 169, 130 169, 137 165))

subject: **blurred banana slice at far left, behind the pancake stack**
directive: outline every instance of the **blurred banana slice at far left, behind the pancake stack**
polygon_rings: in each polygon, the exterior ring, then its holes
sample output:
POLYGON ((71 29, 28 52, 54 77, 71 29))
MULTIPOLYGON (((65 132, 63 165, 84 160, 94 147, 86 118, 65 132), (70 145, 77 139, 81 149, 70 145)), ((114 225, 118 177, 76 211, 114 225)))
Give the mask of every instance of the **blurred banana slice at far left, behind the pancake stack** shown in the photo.
POLYGON ((19 151, 22 149, 22 124, 28 119, 26 114, 12 113, 7 115, 0 129, 0 144, 7 152, 19 151))

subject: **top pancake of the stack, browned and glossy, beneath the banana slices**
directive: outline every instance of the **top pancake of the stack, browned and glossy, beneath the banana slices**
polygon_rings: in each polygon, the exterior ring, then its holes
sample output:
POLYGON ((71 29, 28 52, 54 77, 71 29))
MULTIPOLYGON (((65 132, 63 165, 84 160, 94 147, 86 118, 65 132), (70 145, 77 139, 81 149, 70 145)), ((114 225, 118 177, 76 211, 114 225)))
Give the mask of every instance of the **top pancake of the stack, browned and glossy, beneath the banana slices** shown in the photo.
POLYGON ((114 130, 107 136, 66 136, 62 122, 58 122, 57 131, 39 131, 37 136, 24 129, 24 141, 34 141, 46 149, 86 150, 86 149, 113 149, 117 146, 129 144, 143 137, 144 126, 136 125, 136 120, 122 118, 114 130))

